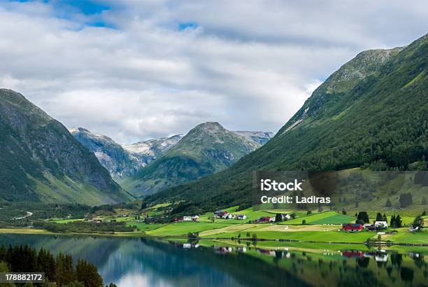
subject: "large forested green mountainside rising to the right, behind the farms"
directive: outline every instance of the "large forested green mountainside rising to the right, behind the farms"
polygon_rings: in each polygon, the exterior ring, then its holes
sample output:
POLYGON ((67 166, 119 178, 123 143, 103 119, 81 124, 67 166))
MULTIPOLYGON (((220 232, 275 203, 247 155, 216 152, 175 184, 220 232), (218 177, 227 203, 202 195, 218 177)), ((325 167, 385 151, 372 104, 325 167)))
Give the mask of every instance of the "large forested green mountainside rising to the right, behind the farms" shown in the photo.
POLYGON ((222 172, 146 197, 181 210, 250 204, 256 170, 408 169, 428 158, 428 35, 341 66, 273 139, 222 172))

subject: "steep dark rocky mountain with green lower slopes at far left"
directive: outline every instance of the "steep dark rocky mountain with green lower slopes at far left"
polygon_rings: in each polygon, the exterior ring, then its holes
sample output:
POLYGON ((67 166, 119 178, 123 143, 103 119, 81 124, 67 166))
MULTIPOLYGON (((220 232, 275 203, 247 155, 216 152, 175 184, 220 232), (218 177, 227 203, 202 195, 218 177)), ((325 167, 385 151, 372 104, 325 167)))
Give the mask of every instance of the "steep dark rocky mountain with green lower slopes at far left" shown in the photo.
POLYGON ((0 89, 0 167, 4 201, 95 205, 133 198, 66 127, 6 89, 0 89))

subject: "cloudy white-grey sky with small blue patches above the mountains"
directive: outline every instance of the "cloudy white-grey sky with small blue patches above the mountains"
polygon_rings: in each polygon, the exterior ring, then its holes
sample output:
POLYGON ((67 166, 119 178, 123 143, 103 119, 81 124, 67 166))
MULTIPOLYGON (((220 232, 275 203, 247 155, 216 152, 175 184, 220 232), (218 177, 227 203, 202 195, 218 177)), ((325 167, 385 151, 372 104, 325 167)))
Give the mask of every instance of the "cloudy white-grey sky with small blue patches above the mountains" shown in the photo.
POLYGON ((428 32, 427 1, 400 2, 0 0, 0 87, 122 143, 276 132, 358 52, 428 32))

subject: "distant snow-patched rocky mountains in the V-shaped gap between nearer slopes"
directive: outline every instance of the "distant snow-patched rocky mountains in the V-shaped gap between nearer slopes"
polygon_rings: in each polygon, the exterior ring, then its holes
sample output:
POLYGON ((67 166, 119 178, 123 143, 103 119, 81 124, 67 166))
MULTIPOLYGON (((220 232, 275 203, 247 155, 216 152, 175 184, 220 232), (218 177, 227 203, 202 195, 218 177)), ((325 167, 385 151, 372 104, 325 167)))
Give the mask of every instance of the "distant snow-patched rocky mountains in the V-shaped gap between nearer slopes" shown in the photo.
POLYGON ((80 144, 97 156, 101 165, 117 181, 133 176, 141 167, 168 151, 183 137, 176 135, 122 146, 109 137, 94 134, 83 127, 72 127, 70 132, 80 144))

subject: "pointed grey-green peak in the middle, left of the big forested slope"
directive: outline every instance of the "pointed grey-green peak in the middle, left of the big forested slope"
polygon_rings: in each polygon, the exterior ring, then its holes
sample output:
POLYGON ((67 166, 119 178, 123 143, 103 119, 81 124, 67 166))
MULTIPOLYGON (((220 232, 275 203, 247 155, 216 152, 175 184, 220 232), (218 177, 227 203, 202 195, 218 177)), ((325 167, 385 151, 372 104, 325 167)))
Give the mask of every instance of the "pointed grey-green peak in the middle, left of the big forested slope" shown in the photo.
POLYGON ((136 195, 155 193, 162 188, 194 181, 219 172, 244 155, 255 151, 270 133, 226 130, 219 123, 194 127, 178 144, 143 167, 124 187, 136 195))

